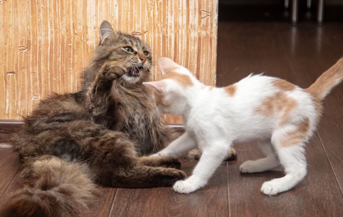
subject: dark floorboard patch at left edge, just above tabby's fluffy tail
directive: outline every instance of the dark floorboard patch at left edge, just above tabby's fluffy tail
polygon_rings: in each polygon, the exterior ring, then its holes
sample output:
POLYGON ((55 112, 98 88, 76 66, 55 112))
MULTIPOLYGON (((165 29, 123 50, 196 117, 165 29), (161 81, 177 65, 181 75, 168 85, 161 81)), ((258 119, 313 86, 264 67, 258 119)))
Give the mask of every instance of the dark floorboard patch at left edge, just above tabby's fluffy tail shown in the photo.
POLYGON ((0 199, 20 169, 19 156, 10 148, 0 148, 0 199))

